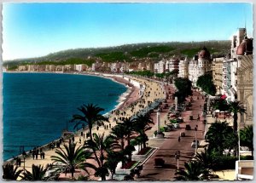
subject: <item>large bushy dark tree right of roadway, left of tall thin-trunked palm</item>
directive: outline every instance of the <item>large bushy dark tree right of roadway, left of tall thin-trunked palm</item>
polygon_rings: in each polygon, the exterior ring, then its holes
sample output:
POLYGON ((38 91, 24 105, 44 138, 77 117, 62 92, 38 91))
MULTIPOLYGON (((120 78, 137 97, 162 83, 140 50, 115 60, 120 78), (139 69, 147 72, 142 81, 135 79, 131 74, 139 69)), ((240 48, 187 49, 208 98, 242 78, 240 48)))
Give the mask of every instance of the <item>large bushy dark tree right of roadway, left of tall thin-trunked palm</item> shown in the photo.
POLYGON ((208 151, 211 152, 213 150, 222 154, 227 143, 227 136, 230 134, 234 134, 234 131, 228 123, 212 123, 206 134, 206 140, 209 141, 208 151))

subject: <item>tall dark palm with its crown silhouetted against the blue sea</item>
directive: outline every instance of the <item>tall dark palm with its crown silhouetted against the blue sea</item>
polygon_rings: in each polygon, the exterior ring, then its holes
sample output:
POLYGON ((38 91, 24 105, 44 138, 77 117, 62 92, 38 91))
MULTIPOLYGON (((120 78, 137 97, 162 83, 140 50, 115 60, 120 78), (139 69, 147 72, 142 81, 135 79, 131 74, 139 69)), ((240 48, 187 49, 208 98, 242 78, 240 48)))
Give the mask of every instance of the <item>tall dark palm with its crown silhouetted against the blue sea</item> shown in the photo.
POLYGON ((71 122, 74 122, 74 121, 77 122, 74 126, 74 129, 80 124, 84 124, 84 125, 88 124, 90 140, 92 140, 91 129, 93 125, 97 124, 98 126, 101 126, 104 122, 108 122, 108 118, 102 116, 101 114, 101 112, 103 112, 104 109, 93 104, 83 105, 83 106, 80 106, 80 108, 78 109, 80 112, 83 113, 83 115, 79 115, 79 114, 73 115, 73 119, 71 120, 71 122))

